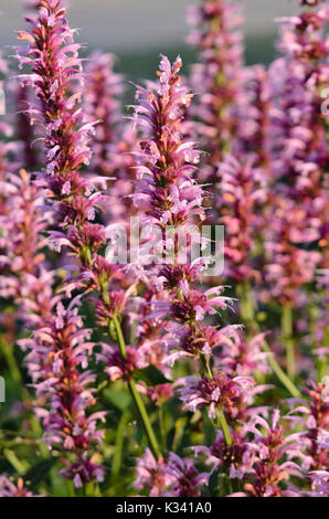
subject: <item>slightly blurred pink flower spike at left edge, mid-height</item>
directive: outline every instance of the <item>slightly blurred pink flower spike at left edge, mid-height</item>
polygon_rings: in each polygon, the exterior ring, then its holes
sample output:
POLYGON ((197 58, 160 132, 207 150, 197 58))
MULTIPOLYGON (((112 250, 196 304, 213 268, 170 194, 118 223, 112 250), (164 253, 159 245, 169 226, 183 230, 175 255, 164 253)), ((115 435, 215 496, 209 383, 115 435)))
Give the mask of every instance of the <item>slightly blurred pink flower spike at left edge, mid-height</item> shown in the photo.
POLYGON ((12 298, 17 317, 26 326, 47 318, 59 297, 53 295, 54 273, 46 269, 43 232, 51 222, 42 212, 43 193, 31 183, 24 170, 7 173, 1 183, 0 295, 12 298))

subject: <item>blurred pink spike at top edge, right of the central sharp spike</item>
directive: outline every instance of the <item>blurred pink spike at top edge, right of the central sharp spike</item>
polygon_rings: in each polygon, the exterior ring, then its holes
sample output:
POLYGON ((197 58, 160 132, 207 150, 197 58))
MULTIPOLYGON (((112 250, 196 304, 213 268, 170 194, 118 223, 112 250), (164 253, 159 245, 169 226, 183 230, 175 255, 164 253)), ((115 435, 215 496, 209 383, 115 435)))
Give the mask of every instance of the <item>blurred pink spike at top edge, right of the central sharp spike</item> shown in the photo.
MULTIPOLYGON (((232 150, 238 126, 233 110, 241 89, 243 63, 238 11, 236 3, 226 0, 202 0, 189 11, 189 21, 194 27, 189 43, 200 51, 200 63, 193 66, 191 76, 200 102, 192 113, 198 117, 199 138, 210 153, 208 163, 213 167, 224 151, 232 150)), ((208 170, 208 178, 213 178, 213 168, 206 166, 208 170)))

